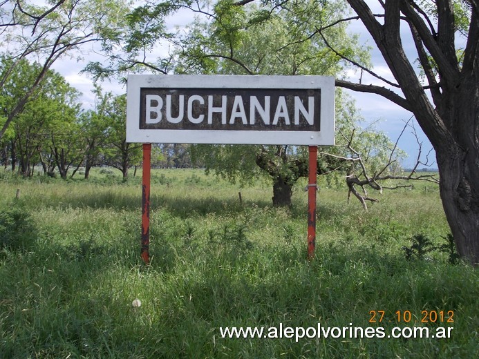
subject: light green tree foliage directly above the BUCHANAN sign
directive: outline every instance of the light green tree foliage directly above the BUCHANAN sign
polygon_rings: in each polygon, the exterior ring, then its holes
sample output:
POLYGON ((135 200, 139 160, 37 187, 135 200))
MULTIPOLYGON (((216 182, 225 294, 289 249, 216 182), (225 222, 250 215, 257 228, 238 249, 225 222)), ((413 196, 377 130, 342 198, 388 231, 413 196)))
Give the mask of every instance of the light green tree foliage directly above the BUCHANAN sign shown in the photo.
MULTIPOLYGON (((212 21, 197 19, 180 37, 178 73, 235 75, 336 75, 344 76, 344 65, 317 39, 303 39, 317 21, 339 19, 344 5, 335 1, 296 1, 287 10, 261 6, 235 6, 218 1, 212 21)), ((330 36, 357 61, 369 64, 367 51, 348 36, 346 26, 331 28, 330 36)))

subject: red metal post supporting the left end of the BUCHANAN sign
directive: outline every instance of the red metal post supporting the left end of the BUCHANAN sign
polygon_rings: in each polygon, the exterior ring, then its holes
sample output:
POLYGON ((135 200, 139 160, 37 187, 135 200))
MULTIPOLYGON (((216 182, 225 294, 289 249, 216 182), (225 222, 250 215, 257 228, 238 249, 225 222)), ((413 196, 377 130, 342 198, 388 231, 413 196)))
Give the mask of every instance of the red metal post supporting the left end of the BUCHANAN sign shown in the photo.
POLYGON ((142 176, 142 250, 141 258, 148 264, 150 261, 150 175, 151 144, 143 144, 143 176, 142 176))

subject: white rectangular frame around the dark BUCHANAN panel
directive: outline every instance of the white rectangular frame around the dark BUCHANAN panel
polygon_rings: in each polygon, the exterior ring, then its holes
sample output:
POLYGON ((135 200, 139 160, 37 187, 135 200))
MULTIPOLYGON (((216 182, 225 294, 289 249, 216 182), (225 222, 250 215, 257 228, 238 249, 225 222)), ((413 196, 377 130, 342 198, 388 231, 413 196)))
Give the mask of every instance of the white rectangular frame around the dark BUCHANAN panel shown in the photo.
POLYGON ((335 144, 335 78, 332 76, 129 75, 126 142, 165 144, 335 144), (321 89, 321 130, 155 130, 140 129, 140 88, 321 89))

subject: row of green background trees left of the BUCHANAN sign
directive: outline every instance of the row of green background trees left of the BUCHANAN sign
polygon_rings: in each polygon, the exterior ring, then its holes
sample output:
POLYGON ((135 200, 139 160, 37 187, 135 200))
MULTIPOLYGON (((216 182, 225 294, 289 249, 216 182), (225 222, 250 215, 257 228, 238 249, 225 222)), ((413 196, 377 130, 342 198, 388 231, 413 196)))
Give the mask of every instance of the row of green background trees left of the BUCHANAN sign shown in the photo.
MULTIPOLYGON (((2 115, 8 116, 30 88, 38 67, 22 59, 12 71, 0 91, 2 115)), ((106 164, 127 177, 129 168, 141 162, 141 147, 126 143, 126 96, 102 93, 99 87, 95 95, 95 108, 82 111, 78 91, 58 72, 48 70, 24 108, 12 118, 8 136, 1 139, 5 166, 10 161, 15 171, 19 164, 19 173, 31 176, 35 165, 41 164, 44 173, 55 175, 57 169, 66 179, 80 166, 88 177, 92 166, 106 164)))

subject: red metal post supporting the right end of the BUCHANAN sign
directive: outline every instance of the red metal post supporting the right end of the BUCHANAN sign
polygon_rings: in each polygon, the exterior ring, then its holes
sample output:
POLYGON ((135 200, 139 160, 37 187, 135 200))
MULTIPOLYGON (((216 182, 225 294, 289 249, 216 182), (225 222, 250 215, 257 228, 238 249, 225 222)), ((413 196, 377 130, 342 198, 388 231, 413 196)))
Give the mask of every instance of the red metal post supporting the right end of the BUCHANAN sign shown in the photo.
POLYGON ((318 146, 309 146, 308 180, 308 260, 314 258, 316 246, 316 192, 318 146))

